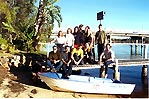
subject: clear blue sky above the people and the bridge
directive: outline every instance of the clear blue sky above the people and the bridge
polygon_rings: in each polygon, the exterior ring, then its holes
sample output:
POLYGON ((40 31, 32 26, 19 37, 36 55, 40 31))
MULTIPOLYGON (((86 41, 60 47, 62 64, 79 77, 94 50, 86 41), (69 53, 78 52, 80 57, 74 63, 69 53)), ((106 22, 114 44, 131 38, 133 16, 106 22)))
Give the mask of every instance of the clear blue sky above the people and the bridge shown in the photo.
POLYGON ((105 11, 102 21, 106 30, 131 30, 149 32, 149 0, 59 0, 63 22, 55 23, 54 30, 74 28, 84 24, 92 31, 98 30, 97 13, 105 11))

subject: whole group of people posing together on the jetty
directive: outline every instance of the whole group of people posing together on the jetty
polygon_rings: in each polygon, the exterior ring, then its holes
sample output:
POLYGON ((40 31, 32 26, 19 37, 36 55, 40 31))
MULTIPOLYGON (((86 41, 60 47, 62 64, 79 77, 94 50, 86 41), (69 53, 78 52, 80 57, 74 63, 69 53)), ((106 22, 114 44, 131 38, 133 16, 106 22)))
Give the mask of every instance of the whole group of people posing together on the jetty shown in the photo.
MULTIPOLYGON (((94 35, 89 26, 82 29, 83 25, 76 26, 72 32, 67 29, 64 35, 62 31, 52 41, 55 43, 53 50, 49 52, 47 65, 51 72, 57 72, 62 68, 62 78, 69 79, 73 65, 104 63, 106 67, 114 62, 114 53, 107 43, 107 35, 99 25, 99 31, 94 35), (94 45, 98 46, 98 61, 95 61, 94 45)), ((107 68, 106 68, 107 69, 107 68)))

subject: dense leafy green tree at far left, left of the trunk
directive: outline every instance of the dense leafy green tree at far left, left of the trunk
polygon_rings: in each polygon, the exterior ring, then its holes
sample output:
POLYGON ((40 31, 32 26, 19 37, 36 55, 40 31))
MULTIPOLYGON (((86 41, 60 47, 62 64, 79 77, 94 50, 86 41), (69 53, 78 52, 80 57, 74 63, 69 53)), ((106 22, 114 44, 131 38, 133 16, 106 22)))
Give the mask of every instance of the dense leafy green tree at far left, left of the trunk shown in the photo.
MULTIPOLYGON (((34 2, 34 0, 2 1, 4 9, 1 8, 0 12, 6 16, 6 21, 2 22, 3 28, 7 30, 6 34, 12 37, 11 41, 17 40, 23 42, 22 44, 18 43, 21 46, 21 50, 27 50, 29 44, 32 44, 29 42, 32 42, 37 12, 34 2)), ((17 42, 13 43, 16 44, 17 42)))

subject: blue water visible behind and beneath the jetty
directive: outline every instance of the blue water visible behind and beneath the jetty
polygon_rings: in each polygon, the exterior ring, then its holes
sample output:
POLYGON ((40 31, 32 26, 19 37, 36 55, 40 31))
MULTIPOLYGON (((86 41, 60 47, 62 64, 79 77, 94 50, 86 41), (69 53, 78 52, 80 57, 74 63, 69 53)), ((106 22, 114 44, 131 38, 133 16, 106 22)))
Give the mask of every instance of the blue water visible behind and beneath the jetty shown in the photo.
MULTIPOLYGON (((44 50, 48 51, 52 50, 52 46, 54 44, 51 44, 49 47, 46 45, 46 48, 44 50)), ((147 45, 149 47, 149 44, 147 45)), ((133 46, 133 55, 131 55, 131 48, 130 45, 127 44, 113 44, 112 45, 112 50, 115 52, 115 56, 117 59, 143 59, 143 53, 141 55, 141 46, 138 46, 138 54, 135 55, 134 51, 134 46, 133 46)), ((95 50, 96 46, 95 46, 95 50)), ((143 52, 143 48, 142 48, 143 52)), ((96 54, 96 59, 97 59, 98 54, 96 54)), ((148 54, 147 58, 149 58, 149 48, 148 48, 148 54)), ((142 80, 141 77, 141 72, 142 72, 142 66, 128 66, 128 67, 119 67, 120 70, 120 81, 124 83, 130 83, 130 84, 136 84, 136 87, 133 91, 133 93, 128 96, 128 97, 133 97, 133 98, 147 98, 148 96, 148 76, 142 80)), ((149 66, 148 66, 149 70, 149 66)), ((81 75, 84 75, 85 73, 89 73, 91 76, 94 77, 99 77, 99 69, 87 69, 87 70, 82 70, 81 75)), ((113 70, 108 69, 108 78, 113 78, 113 70)), ((126 97, 126 96, 122 96, 126 97)))

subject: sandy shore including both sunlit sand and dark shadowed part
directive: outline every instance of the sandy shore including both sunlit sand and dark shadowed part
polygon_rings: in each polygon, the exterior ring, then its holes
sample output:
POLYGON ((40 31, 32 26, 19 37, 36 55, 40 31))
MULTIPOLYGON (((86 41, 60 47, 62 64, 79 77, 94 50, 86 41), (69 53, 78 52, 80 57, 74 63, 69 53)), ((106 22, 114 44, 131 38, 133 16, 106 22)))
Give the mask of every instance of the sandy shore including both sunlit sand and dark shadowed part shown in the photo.
MULTIPOLYGON (((25 70, 25 68, 23 68, 25 70)), ((34 82, 26 71, 9 72, 0 66, 0 98, 119 98, 116 95, 58 92, 38 79, 34 82)))

